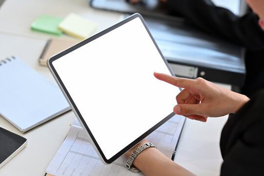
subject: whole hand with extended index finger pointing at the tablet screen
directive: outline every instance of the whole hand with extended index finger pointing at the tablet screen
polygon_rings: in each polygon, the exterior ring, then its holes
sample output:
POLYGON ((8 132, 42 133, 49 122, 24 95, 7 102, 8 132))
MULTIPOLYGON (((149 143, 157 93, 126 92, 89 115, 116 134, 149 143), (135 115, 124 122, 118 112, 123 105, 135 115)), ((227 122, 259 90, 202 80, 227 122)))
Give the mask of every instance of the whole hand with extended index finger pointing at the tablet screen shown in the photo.
POLYGON ((177 96, 174 112, 190 119, 206 122, 207 117, 219 117, 239 110, 249 98, 217 86, 203 78, 186 79, 156 73, 154 76, 174 86, 184 88, 177 96))

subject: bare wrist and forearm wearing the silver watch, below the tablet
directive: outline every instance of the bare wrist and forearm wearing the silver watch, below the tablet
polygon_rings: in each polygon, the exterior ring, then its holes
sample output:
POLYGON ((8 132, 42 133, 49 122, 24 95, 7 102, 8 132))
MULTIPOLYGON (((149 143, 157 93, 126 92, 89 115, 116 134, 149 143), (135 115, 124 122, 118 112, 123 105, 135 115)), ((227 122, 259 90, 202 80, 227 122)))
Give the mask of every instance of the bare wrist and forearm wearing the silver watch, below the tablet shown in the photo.
MULTIPOLYGON (((148 141, 144 139, 129 150, 125 156, 128 158, 137 147, 146 142, 148 141)), ((148 148, 142 151, 134 159, 133 165, 145 176, 195 176, 156 148, 148 148)))

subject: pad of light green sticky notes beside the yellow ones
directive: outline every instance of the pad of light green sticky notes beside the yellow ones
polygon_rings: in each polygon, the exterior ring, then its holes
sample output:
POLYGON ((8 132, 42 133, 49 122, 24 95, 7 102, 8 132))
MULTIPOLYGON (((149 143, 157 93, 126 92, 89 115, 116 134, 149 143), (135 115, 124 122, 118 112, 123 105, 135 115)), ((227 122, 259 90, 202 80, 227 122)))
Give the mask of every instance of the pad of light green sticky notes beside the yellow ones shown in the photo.
POLYGON ((31 29, 54 35, 61 35, 62 30, 58 28, 63 18, 42 14, 31 24, 31 29))

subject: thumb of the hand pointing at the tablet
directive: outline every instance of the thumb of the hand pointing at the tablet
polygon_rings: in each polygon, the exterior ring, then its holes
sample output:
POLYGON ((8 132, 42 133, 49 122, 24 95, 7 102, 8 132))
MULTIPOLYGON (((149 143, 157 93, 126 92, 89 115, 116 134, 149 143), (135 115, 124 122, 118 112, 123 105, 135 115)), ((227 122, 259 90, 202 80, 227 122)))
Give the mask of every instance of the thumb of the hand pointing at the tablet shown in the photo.
POLYGON ((173 111, 178 115, 205 115, 201 104, 179 104, 173 111))

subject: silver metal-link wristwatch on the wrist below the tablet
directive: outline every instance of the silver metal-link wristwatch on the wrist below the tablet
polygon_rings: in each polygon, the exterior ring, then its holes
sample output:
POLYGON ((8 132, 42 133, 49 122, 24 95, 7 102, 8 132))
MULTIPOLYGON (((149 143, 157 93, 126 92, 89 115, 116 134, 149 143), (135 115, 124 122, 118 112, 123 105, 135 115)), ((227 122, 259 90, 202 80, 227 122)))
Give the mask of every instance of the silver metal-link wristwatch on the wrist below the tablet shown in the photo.
POLYGON ((126 168, 128 168, 131 172, 133 173, 138 173, 141 172, 139 169, 137 169, 136 167, 133 167, 132 163, 135 159, 135 157, 142 152, 143 150, 150 148, 150 147, 154 147, 156 148, 152 143, 147 142, 142 144, 141 146, 139 146, 138 148, 136 148, 132 154, 129 156, 128 160, 127 160, 127 164, 126 164, 126 168))

